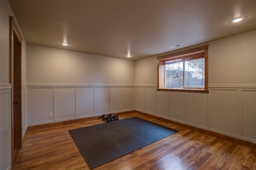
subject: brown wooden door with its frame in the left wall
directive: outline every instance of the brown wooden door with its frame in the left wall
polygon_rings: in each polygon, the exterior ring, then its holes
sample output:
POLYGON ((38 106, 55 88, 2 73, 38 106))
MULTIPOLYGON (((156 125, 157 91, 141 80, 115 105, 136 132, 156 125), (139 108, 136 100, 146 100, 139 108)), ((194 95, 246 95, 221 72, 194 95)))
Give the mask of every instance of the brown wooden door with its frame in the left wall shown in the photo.
POLYGON ((14 168, 22 147, 22 35, 12 16, 10 19, 11 84, 11 166, 14 168))

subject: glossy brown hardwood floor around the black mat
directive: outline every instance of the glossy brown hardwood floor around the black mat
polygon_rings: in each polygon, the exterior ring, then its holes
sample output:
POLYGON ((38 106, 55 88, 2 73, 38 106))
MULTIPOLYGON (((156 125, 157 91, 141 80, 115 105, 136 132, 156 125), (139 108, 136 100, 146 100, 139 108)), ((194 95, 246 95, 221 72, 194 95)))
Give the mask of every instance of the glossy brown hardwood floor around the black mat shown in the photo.
MULTIPOLYGON (((141 117, 179 130, 94 170, 256 170, 256 148, 185 129, 138 113, 141 117)), ((69 129, 105 123, 100 119, 27 131, 14 170, 89 170, 69 129)), ((104 145, 104 139, 102 139, 104 145)), ((107 143, 105 145, 108 145, 107 143)))

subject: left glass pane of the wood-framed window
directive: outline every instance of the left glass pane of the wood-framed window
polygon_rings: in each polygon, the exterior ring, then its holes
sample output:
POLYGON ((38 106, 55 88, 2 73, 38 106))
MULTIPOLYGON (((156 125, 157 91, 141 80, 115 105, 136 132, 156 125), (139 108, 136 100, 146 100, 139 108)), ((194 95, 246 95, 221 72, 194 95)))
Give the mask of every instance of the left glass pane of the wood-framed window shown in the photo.
POLYGON ((165 65, 165 88, 183 88, 183 63, 165 65))

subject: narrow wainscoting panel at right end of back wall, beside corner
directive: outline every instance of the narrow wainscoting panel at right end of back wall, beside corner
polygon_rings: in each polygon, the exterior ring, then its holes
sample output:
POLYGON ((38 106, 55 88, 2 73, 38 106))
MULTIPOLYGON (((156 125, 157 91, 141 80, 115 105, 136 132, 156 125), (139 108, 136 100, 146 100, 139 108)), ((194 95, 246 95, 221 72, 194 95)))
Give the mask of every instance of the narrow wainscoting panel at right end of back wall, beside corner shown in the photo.
POLYGON ((123 87, 123 106, 124 111, 134 110, 134 87, 123 87))

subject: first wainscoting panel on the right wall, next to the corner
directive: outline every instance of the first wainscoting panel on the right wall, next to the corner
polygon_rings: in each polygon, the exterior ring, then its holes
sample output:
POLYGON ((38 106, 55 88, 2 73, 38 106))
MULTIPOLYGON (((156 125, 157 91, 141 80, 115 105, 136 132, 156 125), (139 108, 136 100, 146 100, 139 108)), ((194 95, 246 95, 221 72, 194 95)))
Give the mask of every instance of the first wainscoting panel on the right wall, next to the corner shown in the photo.
POLYGON ((145 88, 135 87, 135 108, 139 111, 145 111, 145 88))

